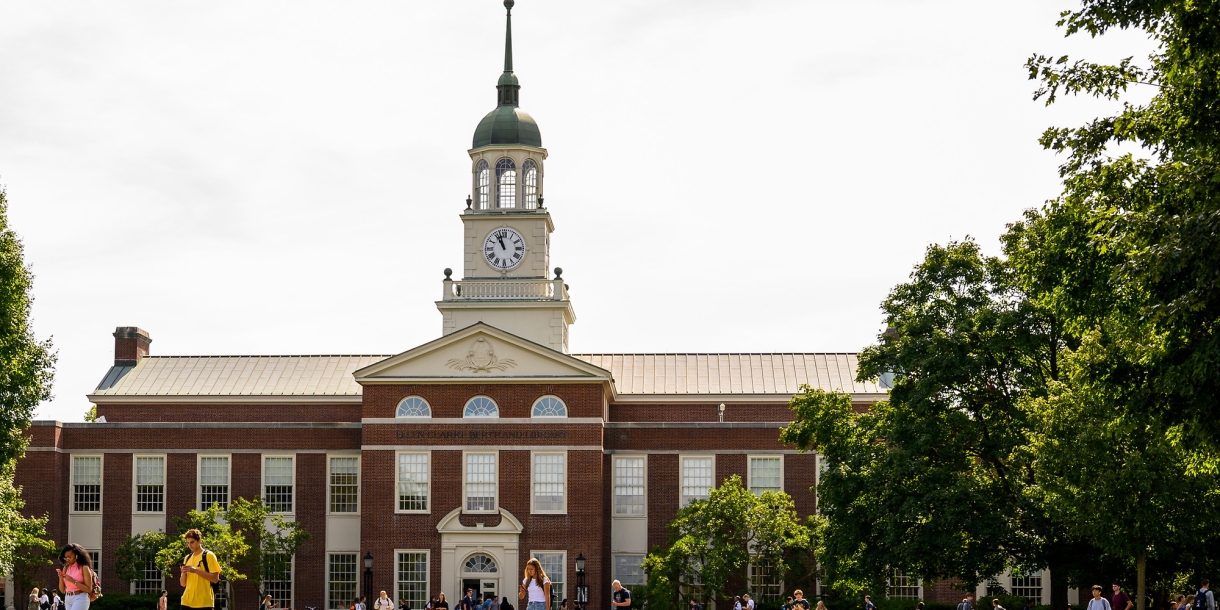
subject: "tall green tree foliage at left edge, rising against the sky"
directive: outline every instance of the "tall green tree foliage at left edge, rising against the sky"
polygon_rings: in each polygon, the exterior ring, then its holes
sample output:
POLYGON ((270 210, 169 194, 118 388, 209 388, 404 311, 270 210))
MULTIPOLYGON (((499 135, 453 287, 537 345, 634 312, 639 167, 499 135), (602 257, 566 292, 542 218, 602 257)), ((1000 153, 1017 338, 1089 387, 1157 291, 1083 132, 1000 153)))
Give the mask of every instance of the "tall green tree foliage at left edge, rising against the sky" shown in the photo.
MULTIPOLYGON (((29 326, 29 290, 34 277, 23 260, 17 234, 9 227, 9 203, 0 188, 0 466, 22 455, 34 409, 51 398, 55 353, 29 326)), ((0 540, 0 547, 11 543, 0 540)))

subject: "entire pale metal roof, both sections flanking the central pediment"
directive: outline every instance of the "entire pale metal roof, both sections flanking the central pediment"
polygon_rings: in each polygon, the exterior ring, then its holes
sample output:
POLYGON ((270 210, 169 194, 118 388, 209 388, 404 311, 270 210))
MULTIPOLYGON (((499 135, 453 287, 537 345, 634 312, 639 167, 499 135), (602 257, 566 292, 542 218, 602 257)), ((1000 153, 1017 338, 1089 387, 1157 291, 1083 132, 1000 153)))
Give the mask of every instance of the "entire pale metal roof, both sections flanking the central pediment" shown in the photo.
MULTIPOLYGON (((94 396, 359 396, 353 372, 390 355, 146 356, 113 366, 94 396)), ((619 394, 884 393, 855 381, 855 354, 572 354, 614 375, 619 394)))

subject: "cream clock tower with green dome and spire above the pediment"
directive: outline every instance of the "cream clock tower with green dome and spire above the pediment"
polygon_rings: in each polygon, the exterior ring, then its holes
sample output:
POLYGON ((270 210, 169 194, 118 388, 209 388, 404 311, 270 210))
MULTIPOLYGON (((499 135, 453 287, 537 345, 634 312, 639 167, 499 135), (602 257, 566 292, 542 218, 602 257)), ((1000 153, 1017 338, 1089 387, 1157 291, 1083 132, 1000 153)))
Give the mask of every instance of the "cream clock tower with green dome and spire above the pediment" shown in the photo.
POLYGON ((444 334, 484 322, 567 351, 567 327, 576 322, 562 271, 550 270, 555 231, 543 204, 547 149, 533 117, 518 106, 521 84, 512 73, 512 5, 504 38, 504 73, 497 106, 475 128, 470 149, 471 195, 461 214, 462 278, 445 270, 437 309, 444 334))

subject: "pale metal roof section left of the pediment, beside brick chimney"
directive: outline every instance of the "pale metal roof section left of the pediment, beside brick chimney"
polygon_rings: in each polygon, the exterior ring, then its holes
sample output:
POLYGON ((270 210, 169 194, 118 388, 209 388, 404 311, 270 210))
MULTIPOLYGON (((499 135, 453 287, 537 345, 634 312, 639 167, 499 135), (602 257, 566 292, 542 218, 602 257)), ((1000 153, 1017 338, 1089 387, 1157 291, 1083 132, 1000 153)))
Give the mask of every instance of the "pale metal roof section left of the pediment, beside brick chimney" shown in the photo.
POLYGON ((112 366, 101 396, 359 396, 351 372, 388 355, 145 356, 112 366))

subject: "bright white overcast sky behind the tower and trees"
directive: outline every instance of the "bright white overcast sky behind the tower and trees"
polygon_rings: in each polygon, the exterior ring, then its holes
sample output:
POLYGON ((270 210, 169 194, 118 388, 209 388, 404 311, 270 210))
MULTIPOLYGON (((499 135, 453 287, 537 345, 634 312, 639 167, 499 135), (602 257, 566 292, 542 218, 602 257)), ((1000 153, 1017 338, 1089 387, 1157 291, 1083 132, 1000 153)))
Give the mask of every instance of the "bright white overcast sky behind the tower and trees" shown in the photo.
MULTIPOLYGON (((1054 198, 1048 0, 518 0, 573 353, 858 351, 933 243, 1054 198)), ((0 0, 0 185, 81 421, 117 326, 155 355, 396 354, 440 336, 498 0, 0 0)), ((1148 89, 1148 88, 1144 88, 1148 89)), ((1150 92, 1131 92, 1147 99, 1150 92)))

